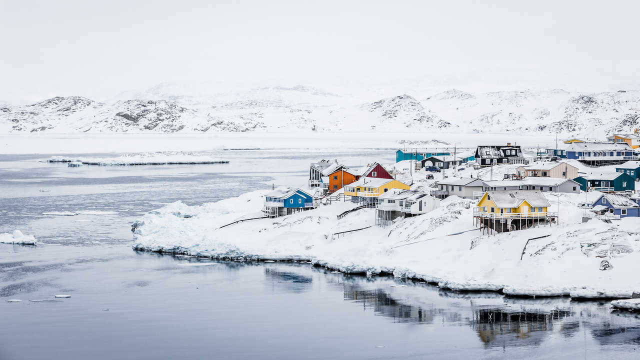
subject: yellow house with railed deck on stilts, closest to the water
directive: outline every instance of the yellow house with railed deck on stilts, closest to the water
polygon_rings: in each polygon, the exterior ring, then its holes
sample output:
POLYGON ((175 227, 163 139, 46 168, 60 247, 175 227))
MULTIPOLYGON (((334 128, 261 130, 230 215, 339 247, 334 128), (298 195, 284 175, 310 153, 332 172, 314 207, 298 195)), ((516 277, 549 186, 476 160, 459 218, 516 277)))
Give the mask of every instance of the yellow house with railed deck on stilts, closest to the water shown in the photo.
POLYGON ((514 231, 557 222, 557 214, 548 212, 550 204, 538 190, 485 192, 474 208, 474 224, 488 231, 514 231))

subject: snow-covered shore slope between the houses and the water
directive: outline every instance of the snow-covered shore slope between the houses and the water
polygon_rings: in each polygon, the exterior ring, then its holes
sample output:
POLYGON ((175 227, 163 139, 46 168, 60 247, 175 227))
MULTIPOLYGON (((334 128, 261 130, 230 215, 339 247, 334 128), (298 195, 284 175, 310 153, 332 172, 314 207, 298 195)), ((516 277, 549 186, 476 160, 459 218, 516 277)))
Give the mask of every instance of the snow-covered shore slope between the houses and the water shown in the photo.
POLYGON ((473 202, 449 197, 428 214, 375 225, 374 210, 350 202, 287 217, 241 222, 255 215, 267 191, 186 206, 174 202, 134 224, 134 249, 223 259, 312 261, 348 273, 392 273, 460 291, 509 295, 629 298, 640 292, 640 221, 582 224, 584 195, 548 196, 559 225, 485 235, 474 229, 473 202), (351 234, 342 231, 371 228, 351 234), (472 231, 468 231, 472 230, 472 231), (467 231, 465 233, 461 233, 467 231), (453 234, 453 235, 450 235, 453 234), (530 238, 522 260, 523 248, 530 238), (608 270, 602 261, 608 261, 608 270))

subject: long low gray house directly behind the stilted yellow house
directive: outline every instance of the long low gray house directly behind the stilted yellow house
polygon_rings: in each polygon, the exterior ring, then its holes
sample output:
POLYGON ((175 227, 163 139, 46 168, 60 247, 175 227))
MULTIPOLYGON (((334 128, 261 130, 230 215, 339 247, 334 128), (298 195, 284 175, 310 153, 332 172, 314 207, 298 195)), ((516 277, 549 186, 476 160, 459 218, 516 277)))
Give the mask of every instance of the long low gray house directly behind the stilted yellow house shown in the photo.
POLYGON ((541 192, 579 193, 580 184, 557 177, 527 177, 524 180, 483 181, 483 192, 491 190, 540 190, 541 192))

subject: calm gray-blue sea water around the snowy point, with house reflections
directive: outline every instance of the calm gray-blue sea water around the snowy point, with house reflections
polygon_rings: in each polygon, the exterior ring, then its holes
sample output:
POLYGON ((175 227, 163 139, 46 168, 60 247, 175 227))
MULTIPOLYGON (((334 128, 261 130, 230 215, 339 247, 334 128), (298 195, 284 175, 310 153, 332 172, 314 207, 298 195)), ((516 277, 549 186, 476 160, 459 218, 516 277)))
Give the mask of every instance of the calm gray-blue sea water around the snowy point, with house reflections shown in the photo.
MULTIPOLYGON (((0 359, 640 355, 640 315, 611 311, 606 301, 455 293, 307 263, 131 250, 131 222, 146 211, 174 200, 202 204, 272 183, 300 183, 310 161, 335 155, 220 156, 232 163, 68 168, 38 161, 42 155, 1 156, 0 232, 21 229, 47 245, 0 244, 0 359), (42 215, 48 211, 99 212, 42 215)), ((362 165, 362 158, 392 161, 393 153, 338 157, 362 165)))

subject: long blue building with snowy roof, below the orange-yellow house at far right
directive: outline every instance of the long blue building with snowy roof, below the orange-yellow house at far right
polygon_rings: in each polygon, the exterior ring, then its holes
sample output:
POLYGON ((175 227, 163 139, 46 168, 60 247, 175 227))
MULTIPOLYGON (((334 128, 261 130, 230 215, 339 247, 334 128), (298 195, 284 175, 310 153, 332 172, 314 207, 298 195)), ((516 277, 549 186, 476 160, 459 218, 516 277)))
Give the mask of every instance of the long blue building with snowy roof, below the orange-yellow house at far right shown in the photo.
POLYGON ((566 147, 566 158, 587 165, 621 164, 627 160, 638 160, 628 143, 576 142, 566 147))

